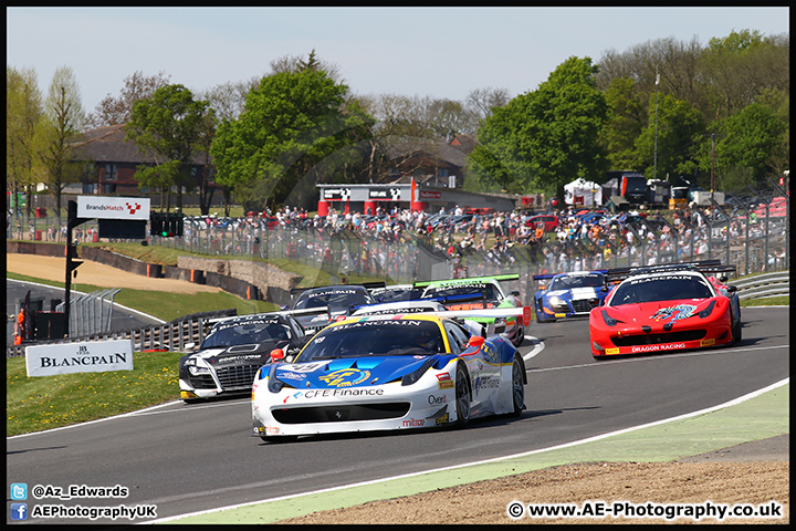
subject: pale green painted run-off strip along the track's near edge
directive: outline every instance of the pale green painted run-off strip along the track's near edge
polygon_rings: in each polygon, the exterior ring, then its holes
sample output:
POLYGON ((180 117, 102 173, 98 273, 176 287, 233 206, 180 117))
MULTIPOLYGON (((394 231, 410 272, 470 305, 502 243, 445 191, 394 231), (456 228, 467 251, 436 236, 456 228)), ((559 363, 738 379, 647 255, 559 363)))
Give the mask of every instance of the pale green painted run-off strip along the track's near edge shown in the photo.
POLYGON ((729 404, 681 418, 622 430, 600 438, 535 450, 469 466, 368 481, 343 488, 286 496, 148 523, 180 524, 268 523, 368 501, 411 496, 428 490, 472 483, 542 468, 595 461, 673 461, 682 445, 695 448, 680 461, 790 460, 789 378, 729 404), (595 440, 597 439, 597 440, 595 440), (311 509, 308 509, 311 508, 311 509))

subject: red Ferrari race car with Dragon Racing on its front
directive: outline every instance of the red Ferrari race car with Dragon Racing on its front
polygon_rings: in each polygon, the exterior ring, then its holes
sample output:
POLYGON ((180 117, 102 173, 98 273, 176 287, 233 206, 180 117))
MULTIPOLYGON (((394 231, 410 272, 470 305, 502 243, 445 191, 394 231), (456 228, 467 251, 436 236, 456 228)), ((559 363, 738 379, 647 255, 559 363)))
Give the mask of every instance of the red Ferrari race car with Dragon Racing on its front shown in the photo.
POLYGON ((618 284, 589 313, 591 355, 604 360, 741 341, 737 290, 724 284, 726 275, 714 277, 727 272, 735 267, 719 260, 609 269, 607 282, 618 284))

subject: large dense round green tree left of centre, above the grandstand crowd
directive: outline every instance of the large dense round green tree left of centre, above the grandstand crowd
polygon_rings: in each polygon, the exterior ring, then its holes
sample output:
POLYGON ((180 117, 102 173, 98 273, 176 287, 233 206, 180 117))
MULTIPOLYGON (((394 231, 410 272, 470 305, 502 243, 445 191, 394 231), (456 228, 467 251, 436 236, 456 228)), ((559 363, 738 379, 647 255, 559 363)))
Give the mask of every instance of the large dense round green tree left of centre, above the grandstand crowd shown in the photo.
POLYGON ((232 188, 247 209, 289 197, 306 205, 315 185, 345 165, 344 148, 369 137, 373 121, 356 103, 346 107, 347 91, 314 67, 263 77, 240 117, 218 127, 210 149, 217 184, 232 188))

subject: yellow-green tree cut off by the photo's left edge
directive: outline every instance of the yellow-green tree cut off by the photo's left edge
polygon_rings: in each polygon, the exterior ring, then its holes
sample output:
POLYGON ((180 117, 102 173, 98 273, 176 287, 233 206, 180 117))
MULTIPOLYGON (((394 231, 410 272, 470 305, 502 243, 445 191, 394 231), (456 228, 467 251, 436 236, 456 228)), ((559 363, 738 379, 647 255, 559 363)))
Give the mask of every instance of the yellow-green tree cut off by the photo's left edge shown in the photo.
MULTIPOLYGON (((18 190, 27 190, 30 217, 35 189, 38 157, 34 139, 43 114, 42 95, 34 70, 17 71, 6 66, 6 175, 7 187, 18 207, 18 190)), ((12 210, 17 217, 19 208, 12 210)))

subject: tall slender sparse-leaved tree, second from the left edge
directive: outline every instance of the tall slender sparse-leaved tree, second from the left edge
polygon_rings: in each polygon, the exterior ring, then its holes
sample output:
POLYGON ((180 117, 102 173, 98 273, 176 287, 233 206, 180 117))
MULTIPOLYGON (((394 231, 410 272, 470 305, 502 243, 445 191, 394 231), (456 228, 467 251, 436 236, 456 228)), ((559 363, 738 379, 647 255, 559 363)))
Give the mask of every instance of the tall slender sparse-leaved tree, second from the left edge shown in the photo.
POLYGON ((44 103, 42 126, 36 131, 36 152, 46 167, 48 191, 55 198, 55 217, 61 217, 61 195, 66 185, 80 181, 84 164, 74 160, 85 117, 80 86, 72 69, 55 70, 44 103))

